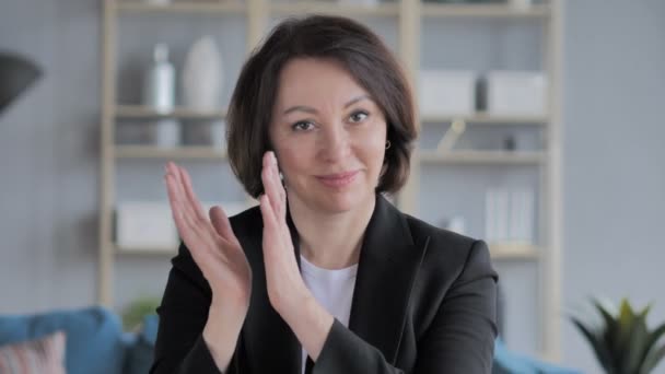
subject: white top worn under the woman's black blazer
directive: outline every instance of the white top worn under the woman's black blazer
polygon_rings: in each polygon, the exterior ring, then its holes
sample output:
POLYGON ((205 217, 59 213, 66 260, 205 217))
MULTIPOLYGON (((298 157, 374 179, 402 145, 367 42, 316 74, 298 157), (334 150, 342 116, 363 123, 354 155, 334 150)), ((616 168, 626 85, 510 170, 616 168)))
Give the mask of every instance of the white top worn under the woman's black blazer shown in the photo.
MULTIPOLYGON (((300 256, 300 266, 305 285, 314 299, 342 325, 349 326, 358 264, 343 269, 329 270, 319 268, 300 256)), ((302 360, 304 374, 307 362, 307 352, 304 348, 302 360)))

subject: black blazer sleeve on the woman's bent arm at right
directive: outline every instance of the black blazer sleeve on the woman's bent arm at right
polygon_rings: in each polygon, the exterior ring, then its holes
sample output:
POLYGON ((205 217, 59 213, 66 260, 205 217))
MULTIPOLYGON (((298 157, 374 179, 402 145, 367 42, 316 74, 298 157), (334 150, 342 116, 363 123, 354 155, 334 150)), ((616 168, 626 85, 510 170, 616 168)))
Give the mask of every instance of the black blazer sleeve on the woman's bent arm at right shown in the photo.
MULTIPOLYGON (((472 244, 464 269, 418 342, 413 374, 491 373, 497 337, 497 274, 482 241, 472 244)), ((404 373, 337 319, 313 374, 404 373)))

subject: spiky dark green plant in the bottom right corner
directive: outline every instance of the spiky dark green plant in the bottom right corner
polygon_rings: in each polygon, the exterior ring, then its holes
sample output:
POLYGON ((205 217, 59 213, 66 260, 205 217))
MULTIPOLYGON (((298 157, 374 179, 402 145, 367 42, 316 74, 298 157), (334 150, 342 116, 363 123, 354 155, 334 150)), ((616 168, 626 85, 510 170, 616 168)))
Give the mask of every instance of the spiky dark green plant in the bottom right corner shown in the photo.
POLYGON ((665 343, 657 346, 665 334, 665 324, 654 330, 646 327, 646 315, 651 305, 635 312, 626 299, 621 301, 618 309, 595 299, 592 303, 602 317, 600 324, 582 322, 574 316, 571 316, 571 319, 592 346, 605 372, 650 373, 665 357, 665 343))

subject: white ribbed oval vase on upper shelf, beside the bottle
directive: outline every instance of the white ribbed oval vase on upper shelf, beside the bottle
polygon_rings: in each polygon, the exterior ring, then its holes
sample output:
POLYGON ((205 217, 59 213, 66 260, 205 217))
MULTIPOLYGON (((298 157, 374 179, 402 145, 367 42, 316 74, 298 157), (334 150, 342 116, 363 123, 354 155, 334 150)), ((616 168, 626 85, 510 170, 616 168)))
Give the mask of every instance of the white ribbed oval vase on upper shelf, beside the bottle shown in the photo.
POLYGON ((183 68, 183 104, 196 110, 221 106, 222 55, 211 36, 198 39, 189 49, 183 68))

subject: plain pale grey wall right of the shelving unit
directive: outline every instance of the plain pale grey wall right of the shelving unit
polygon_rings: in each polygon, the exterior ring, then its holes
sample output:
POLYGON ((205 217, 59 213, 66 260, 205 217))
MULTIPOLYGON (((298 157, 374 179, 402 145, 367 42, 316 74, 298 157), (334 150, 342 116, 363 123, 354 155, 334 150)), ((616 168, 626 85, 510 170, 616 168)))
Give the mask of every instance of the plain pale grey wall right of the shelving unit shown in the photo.
MULTIPOLYGON (((663 322, 665 1, 567 8, 563 307, 630 296, 653 301, 652 324, 663 322)), ((568 322, 563 353, 599 372, 568 322)))

